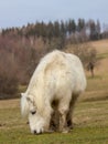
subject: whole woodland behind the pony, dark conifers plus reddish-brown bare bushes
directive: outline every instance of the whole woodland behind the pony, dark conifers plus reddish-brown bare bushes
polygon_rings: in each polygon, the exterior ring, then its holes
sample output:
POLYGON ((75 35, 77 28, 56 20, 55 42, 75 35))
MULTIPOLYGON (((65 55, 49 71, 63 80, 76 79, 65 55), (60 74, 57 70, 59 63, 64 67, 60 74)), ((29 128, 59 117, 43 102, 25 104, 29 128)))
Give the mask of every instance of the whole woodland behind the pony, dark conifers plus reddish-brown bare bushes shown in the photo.
POLYGON ((84 64, 96 59, 89 41, 108 38, 99 20, 74 19, 28 23, 21 28, 7 28, 0 32, 0 99, 14 97, 20 85, 26 85, 40 59, 58 49, 66 51, 74 45, 74 53, 84 64), (78 50, 78 52, 77 52, 78 50), (80 54, 82 53, 82 54, 80 54))

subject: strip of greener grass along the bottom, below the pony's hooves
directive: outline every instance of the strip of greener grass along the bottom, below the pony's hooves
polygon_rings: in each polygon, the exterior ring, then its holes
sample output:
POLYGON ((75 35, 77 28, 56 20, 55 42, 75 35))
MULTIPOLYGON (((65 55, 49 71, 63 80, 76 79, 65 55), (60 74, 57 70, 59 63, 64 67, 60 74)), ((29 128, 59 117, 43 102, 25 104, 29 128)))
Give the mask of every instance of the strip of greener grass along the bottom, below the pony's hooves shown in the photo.
POLYGON ((4 131, 0 136, 0 144, 107 144, 108 127, 86 126, 76 127, 68 134, 31 135, 26 130, 4 131), (23 132, 25 131, 25 132, 23 132), (8 135, 6 135, 8 134, 8 135))

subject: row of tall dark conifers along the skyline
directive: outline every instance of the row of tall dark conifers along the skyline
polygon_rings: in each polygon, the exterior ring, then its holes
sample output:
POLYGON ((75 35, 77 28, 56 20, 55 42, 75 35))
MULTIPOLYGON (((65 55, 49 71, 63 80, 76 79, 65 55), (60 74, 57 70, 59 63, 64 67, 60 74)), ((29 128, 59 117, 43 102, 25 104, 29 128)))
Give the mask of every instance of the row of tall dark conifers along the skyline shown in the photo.
POLYGON ((50 21, 48 23, 42 21, 28 23, 28 25, 23 25, 22 28, 2 29, 1 34, 14 34, 26 38, 42 37, 45 41, 45 39, 52 40, 53 38, 68 38, 73 34, 78 35, 82 33, 85 34, 87 40, 99 40, 104 38, 104 32, 101 32, 99 20, 85 21, 84 19, 78 19, 76 22, 74 19, 69 19, 68 21, 50 21))

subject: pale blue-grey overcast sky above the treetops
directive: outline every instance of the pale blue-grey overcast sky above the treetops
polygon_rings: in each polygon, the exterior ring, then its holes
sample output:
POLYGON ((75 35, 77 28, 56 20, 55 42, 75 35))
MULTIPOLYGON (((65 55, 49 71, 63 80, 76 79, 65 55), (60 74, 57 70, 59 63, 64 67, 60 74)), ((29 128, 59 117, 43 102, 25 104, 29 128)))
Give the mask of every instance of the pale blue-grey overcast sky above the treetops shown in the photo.
POLYGON ((108 0, 0 0, 0 28, 69 18, 108 24, 108 0))

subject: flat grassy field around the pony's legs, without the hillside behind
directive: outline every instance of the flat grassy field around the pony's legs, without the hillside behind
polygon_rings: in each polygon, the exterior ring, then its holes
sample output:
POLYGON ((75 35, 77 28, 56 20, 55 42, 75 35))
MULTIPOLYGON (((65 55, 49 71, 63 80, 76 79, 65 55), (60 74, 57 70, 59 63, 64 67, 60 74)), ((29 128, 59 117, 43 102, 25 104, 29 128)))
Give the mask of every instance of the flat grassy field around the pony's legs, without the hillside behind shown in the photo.
MULTIPOLYGON (((102 96, 102 95, 101 95, 102 96)), ((68 134, 33 135, 28 120, 20 115, 20 101, 7 100, 0 104, 0 144, 107 144, 108 99, 86 101, 80 97, 74 113, 75 126, 68 134), (14 104, 15 103, 15 104, 14 104)))

